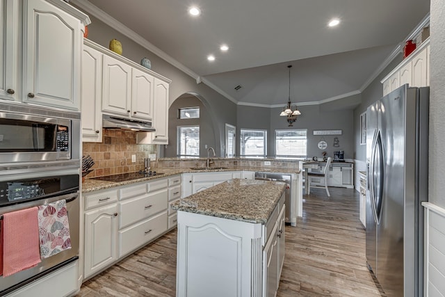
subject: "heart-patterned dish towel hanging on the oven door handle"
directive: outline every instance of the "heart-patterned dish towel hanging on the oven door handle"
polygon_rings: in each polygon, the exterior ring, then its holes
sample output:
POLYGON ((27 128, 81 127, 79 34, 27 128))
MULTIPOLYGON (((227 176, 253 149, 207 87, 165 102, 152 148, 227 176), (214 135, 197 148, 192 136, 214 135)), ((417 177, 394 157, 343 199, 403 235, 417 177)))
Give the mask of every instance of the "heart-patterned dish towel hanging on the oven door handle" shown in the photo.
POLYGON ((67 202, 59 200, 38 207, 40 257, 45 259, 71 248, 67 202))

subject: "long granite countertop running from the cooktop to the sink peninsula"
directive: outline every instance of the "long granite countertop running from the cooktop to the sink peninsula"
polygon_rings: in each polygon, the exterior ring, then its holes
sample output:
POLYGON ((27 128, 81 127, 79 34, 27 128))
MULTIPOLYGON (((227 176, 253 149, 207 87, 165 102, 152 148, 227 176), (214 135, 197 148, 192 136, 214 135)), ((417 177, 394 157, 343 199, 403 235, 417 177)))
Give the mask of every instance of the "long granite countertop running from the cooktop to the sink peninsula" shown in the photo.
POLYGON ((163 177, 170 177, 172 175, 179 175, 181 173, 193 173, 193 172, 225 172, 225 171, 256 171, 256 172, 282 172, 282 173, 300 173, 299 169, 289 169, 289 168, 257 168, 257 167, 233 167, 227 169, 217 169, 217 170, 194 170, 191 168, 152 168, 156 172, 162 172, 163 175, 155 175, 154 177, 141 177, 140 179, 133 179, 126 182, 106 182, 99 179, 85 179, 82 183, 82 193, 88 193, 93 191, 104 190, 106 188, 113 188, 115 186, 125 186, 127 184, 136 184, 138 182, 147 182, 154 179, 159 179, 163 177))

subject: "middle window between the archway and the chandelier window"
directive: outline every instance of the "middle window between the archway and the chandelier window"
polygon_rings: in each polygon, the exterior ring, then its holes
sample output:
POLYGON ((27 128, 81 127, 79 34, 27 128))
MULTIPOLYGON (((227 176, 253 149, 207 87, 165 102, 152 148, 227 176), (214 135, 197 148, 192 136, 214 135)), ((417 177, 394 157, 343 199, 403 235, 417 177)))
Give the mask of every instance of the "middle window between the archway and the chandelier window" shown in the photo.
POLYGON ((265 158, 266 130, 241 129, 241 156, 265 158))

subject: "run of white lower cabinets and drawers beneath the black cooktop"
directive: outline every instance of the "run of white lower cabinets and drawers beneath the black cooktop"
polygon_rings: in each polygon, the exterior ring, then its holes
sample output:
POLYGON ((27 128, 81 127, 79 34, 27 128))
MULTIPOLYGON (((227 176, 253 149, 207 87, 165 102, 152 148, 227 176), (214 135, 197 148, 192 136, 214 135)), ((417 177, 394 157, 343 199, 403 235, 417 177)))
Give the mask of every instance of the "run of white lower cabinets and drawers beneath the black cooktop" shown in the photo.
POLYGON ((84 195, 84 280, 175 227, 168 203, 180 198, 180 181, 176 175, 84 195))

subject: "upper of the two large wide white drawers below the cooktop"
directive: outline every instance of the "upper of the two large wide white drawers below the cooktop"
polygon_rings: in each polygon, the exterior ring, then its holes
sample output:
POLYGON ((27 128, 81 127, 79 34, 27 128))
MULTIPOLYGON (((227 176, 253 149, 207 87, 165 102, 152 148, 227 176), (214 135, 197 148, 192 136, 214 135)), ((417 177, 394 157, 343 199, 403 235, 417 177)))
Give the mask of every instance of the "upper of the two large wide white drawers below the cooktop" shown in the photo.
POLYGON ((167 209, 167 189, 120 203, 119 227, 126 227, 167 209))

